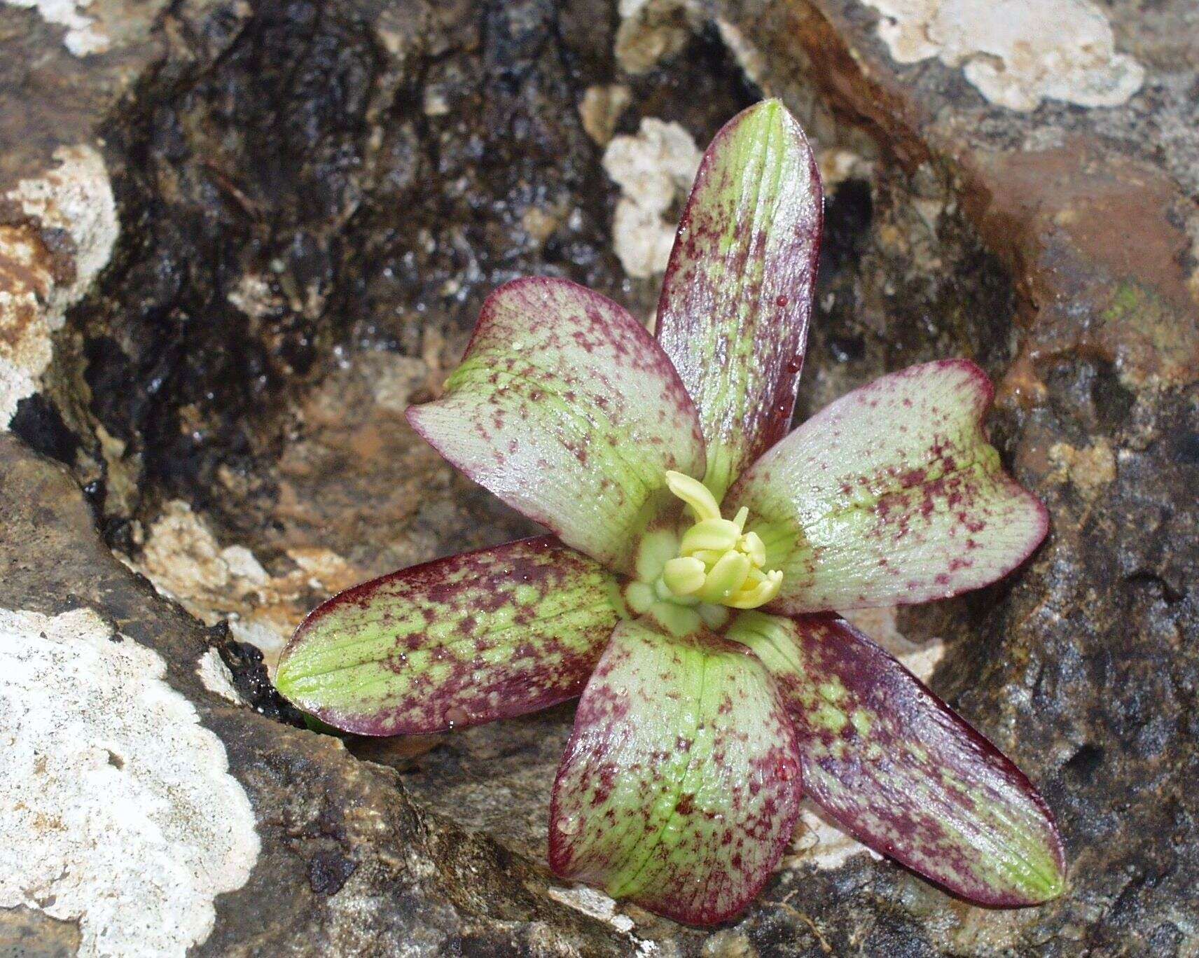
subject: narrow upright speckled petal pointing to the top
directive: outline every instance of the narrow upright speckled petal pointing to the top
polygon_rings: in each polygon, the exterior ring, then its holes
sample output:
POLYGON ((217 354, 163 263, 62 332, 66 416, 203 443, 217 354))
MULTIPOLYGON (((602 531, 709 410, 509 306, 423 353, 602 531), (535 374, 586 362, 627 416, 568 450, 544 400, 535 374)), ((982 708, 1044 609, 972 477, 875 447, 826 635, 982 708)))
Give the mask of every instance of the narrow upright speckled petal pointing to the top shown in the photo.
POLYGON ((657 336, 699 406, 717 499, 790 428, 823 217, 815 159, 782 103, 716 134, 679 224, 657 336))

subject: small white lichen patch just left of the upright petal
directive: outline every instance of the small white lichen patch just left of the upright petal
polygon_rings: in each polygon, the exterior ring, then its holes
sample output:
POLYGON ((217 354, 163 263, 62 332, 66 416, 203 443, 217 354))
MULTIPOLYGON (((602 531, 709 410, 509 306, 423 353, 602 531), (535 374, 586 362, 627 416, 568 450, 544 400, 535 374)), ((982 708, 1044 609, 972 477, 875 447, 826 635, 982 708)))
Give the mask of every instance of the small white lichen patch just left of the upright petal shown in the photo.
POLYGON ((611 239, 629 276, 644 279, 665 271, 675 234, 665 213, 686 197, 699 161, 691 133, 652 116, 641 120, 635 137, 608 144, 603 168, 621 189, 611 239))

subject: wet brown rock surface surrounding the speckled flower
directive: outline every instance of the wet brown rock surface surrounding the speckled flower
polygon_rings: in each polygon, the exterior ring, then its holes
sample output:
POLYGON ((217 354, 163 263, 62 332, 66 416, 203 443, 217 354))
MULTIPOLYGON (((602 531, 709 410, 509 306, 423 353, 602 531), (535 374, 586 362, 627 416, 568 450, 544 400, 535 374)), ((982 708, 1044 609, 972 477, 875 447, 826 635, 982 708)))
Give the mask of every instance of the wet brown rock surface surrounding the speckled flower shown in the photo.
MULTIPOLYGON (((1059 42, 1035 18, 1024 36, 1014 2, 983 5, 1011 14, 987 34, 960 16, 976 6, 0 2, 0 609, 95 616, 219 742, 205 775, 234 796, 230 835, 248 801, 259 849, 240 843, 234 890, 193 887, 198 952, 1199 947, 1199 14, 1055 0, 1059 42), (1053 56, 1070 68, 1047 74, 1053 56), (803 120, 830 187, 801 412, 972 356, 1053 514, 1019 574, 898 620, 946 640, 934 687, 1054 807, 1071 872, 1048 906, 968 906, 808 818, 733 926, 614 909, 543 864, 568 706, 342 742, 270 691, 329 592, 528 530, 403 408, 514 276, 649 317, 657 277, 626 275, 616 242, 652 249, 677 211, 614 240, 628 191, 604 151, 644 121, 703 145, 760 91, 803 120)), ((670 181, 688 157, 659 139, 670 181)), ((97 775, 123 773, 110 747, 83 755, 97 775)), ((0 910, 0 946, 102 953, 101 903, 44 884, 0 910)))

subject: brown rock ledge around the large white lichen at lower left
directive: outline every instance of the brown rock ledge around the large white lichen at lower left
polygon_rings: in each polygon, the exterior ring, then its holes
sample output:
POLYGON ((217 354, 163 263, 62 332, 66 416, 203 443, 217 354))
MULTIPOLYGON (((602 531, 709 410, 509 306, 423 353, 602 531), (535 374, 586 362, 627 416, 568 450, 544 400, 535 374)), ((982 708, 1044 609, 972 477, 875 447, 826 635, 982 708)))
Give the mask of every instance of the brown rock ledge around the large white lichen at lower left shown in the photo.
MULTIPOLYGON (((414 806, 393 772, 359 761, 337 739, 272 721, 209 692, 195 673, 207 649, 205 629, 116 561, 96 534, 78 486, 12 436, 0 438, 0 465, 6 477, 0 490, 5 542, 19 537, 25 543, 23 550, 6 548, 0 555, 0 607, 20 610, 6 615, 67 620, 76 628, 83 619, 89 629, 119 631, 113 655, 162 668, 162 680, 156 681, 163 687, 146 701, 191 710, 192 721, 199 722, 192 725, 195 734, 207 736, 217 749, 213 781, 246 802, 248 839, 236 831, 215 830, 209 837, 193 833, 174 849, 180 855, 204 855, 210 840, 234 838, 229 854, 246 860, 248 878, 239 875, 234 890, 222 888, 225 893, 219 897, 217 888, 205 885, 189 898, 168 887, 165 902, 179 910, 179 924, 198 922, 201 951, 287 948, 327 954, 415 947, 416 953, 435 954, 472 942, 548 954, 627 953, 627 936, 550 898, 538 864, 414 806), (197 917, 205 909, 206 928, 203 914, 197 917)), ((11 641, 6 638, 6 650, 13 649, 11 641)), ((85 641, 64 635, 62 647, 77 650, 85 641)), ((122 687, 114 687, 114 694, 122 687)), ((70 703, 54 694, 43 691, 50 695, 42 699, 47 707, 73 715, 70 703)), ((180 743, 163 741, 155 747, 180 743)), ((145 763, 147 755, 137 749, 121 755, 121 765, 109 765, 108 773, 126 775, 145 763)), ((153 764, 143 766, 141 773, 170 775, 171 769, 153 764)), ((134 806, 138 794, 131 794, 134 806)), ((173 806, 151 805, 145 813, 163 808, 173 806)), ((207 813, 224 817, 228 825, 235 820, 233 809, 219 802, 207 813)), ((147 840, 163 842, 164 855, 173 850, 170 836, 147 840)), ((171 923, 145 922, 135 906, 106 912, 107 903, 122 900, 126 893, 134 905, 141 903, 137 881, 144 874, 110 874, 92 891, 86 885, 80 888, 78 876, 71 880, 70 917, 85 932, 85 953, 106 953, 103 942, 89 946, 86 934, 95 935, 97 922, 106 918, 107 940, 132 953, 158 952, 163 945, 155 935, 181 933, 171 923)), ((29 900, 12 917, 0 911, 4 934, 24 934, 28 909, 55 914, 55 888, 62 880, 50 876, 36 888, 38 900, 29 900)))

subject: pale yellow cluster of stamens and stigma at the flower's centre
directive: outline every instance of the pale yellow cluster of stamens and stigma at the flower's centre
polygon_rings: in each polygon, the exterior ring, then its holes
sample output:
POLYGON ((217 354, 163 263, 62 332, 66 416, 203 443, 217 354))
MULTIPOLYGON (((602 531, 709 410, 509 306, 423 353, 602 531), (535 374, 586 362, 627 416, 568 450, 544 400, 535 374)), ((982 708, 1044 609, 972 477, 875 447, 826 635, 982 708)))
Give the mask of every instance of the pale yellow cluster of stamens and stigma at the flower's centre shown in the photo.
POLYGON ((671 596, 755 609, 778 595, 783 573, 763 570, 766 547, 757 532, 745 531, 747 508, 731 519, 723 518, 707 487, 682 472, 668 471, 667 488, 691 506, 695 517, 679 542, 679 555, 662 570, 662 586, 671 596))

